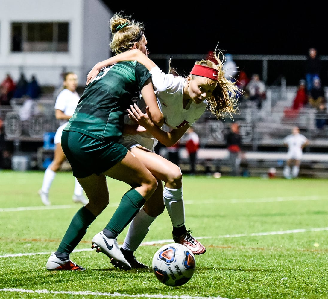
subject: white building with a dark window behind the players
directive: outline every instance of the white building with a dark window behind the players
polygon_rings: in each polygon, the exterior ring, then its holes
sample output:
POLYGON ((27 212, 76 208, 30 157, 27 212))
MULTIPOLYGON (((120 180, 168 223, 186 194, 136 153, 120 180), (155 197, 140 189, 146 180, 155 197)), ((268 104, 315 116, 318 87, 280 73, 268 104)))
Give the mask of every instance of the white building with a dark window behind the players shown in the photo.
POLYGON ((63 71, 84 85, 88 72, 111 56, 109 20, 101 0, 1 0, 0 82, 21 72, 41 86, 58 86, 63 71))

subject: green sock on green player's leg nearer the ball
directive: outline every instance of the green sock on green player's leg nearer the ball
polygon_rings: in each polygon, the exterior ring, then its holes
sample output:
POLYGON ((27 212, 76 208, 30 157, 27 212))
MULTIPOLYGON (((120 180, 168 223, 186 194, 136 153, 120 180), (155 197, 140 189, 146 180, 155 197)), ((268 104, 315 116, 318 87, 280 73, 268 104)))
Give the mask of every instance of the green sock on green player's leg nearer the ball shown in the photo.
POLYGON ((105 229, 110 230, 117 237, 132 221, 145 202, 145 199, 138 191, 130 189, 123 195, 120 204, 105 229))

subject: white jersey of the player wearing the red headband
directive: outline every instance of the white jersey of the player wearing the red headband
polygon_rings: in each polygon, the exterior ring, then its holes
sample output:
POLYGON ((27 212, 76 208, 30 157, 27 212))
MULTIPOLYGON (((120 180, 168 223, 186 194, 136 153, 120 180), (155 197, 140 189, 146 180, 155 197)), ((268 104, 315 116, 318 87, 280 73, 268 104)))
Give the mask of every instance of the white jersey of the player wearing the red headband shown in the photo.
MULTIPOLYGON (((158 67, 154 67, 150 70, 150 73, 152 74, 157 103, 165 118, 165 125, 162 129, 169 132, 186 124, 192 126, 204 113, 208 104, 207 101, 204 100, 200 104, 195 104, 191 101, 187 107, 183 108, 182 96, 186 79, 175 77, 173 74, 165 74, 158 67)), ((138 100, 138 107, 143 112, 145 111, 145 103, 142 99, 138 100)), ((126 118, 125 123, 130 123, 129 121, 131 120, 126 118)), ((154 151, 154 146, 157 142, 157 139, 148 132, 135 135, 123 134, 120 140, 120 143, 128 149, 141 145, 151 151, 154 151)))

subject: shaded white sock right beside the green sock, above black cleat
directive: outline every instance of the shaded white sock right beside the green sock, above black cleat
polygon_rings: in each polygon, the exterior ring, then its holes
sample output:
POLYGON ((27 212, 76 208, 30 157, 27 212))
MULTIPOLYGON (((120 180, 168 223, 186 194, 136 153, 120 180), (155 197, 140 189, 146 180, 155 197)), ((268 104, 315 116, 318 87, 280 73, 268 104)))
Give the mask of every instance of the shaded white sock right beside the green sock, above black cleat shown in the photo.
POLYGON ((122 248, 129 251, 137 250, 148 233, 149 226, 155 219, 156 217, 149 216, 144 209, 141 208, 130 223, 122 248))

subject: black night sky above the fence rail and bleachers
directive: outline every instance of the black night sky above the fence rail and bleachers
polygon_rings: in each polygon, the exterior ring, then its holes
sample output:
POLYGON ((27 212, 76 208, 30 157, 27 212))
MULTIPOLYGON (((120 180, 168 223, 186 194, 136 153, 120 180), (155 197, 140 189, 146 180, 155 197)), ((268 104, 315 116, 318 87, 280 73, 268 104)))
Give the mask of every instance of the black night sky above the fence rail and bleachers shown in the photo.
POLYGON ((124 11, 144 23, 151 54, 202 54, 219 43, 220 50, 231 54, 306 55, 315 47, 319 55, 328 55, 327 20, 318 2, 314 7, 311 3, 302 7, 300 2, 273 6, 262 1, 254 7, 251 1, 218 1, 207 7, 183 2, 179 10, 154 2, 153 6, 103 2, 112 12, 124 11))

